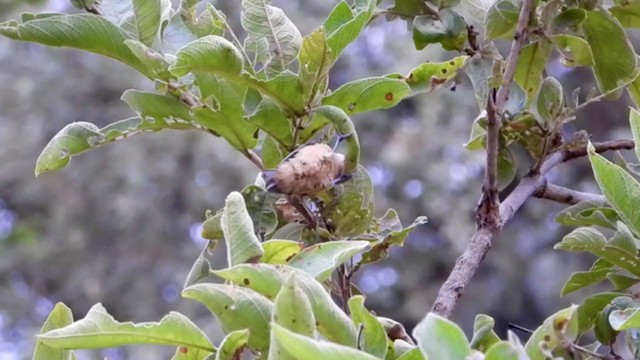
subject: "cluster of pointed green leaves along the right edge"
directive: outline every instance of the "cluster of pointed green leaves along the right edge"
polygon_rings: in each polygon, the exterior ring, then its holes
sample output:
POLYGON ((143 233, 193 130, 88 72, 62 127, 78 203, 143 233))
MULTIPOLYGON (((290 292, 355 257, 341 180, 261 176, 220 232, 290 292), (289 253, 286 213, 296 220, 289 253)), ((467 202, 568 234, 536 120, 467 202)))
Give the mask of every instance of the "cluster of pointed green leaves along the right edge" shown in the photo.
MULTIPOLYGON (((631 109, 630 124, 640 157, 640 112, 631 109)), ((576 272, 565 283, 562 294, 608 280, 613 289, 584 299, 578 307, 579 334, 594 329, 600 344, 612 346, 619 333, 624 333, 626 345, 637 357, 640 347, 635 333, 640 328, 640 303, 633 287, 640 283, 640 182, 634 170, 636 164, 627 163, 617 154, 615 162, 589 149, 589 159, 596 181, 606 201, 580 202, 558 215, 557 221, 580 226, 565 236, 555 248, 587 252, 597 260, 587 271, 576 272), (612 233, 607 239, 598 230, 612 233)))

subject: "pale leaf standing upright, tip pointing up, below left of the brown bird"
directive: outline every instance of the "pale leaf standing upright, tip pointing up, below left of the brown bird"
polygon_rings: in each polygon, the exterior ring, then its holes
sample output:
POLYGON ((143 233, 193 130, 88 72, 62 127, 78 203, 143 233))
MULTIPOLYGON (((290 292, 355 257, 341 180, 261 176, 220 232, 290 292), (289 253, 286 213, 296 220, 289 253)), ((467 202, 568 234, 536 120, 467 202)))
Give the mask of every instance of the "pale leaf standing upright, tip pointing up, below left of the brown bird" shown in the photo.
POLYGON ((253 220, 247 212, 244 198, 232 192, 225 200, 221 227, 227 242, 229 266, 244 262, 255 262, 264 253, 253 230, 253 220))

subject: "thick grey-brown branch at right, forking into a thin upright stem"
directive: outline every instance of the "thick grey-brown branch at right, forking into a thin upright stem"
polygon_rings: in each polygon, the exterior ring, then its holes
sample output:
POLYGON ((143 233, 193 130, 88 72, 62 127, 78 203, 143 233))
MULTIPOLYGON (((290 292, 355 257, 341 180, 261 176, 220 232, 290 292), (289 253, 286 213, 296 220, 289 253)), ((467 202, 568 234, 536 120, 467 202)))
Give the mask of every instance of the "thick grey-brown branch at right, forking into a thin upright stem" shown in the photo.
POLYGON ((517 193, 514 191, 515 194, 512 193, 500 205, 497 180, 500 128, 502 127, 504 108, 509 96, 509 85, 513 82, 520 51, 527 39, 527 26, 531 17, 532 7, 533 0, 522 1, 518 25, 514 40, 511 43, 502 84, 495 94, 495 99, 491 94, 487 101, 487 160, 482 185, 482 197, 476 209, 476 230, 469 240, 467 248, 456 260, 449 278, 440 288, 432 307, 433 312, 445 317, 451 315, 458 299, 464 292, 464 288, 469 284, 480 263, 489 252, 491 243, 500 233, 502 226, 535 193, 544 180, 540 175, 532 176, 530 179, 523 179, 519 184, 519 191, 517 193))

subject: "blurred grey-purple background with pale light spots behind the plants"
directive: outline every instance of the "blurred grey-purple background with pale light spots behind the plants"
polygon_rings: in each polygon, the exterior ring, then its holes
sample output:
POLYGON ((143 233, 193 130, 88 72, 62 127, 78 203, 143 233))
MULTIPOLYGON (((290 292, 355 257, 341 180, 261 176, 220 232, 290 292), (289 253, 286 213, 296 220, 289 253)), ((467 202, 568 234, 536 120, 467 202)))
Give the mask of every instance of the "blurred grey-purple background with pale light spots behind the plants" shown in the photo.
MULTIPOLYGON (((336 2, 273 1, 303 34, 319 26, 336 2)), ((240 31, 240 1, 215 5, 240 31)), ((23 11, 74 10, 66 0, 0 1, 1 21, 23 11)), ((508 44, 501 45, 506 50, 508 44)), ((406 73, 421 62, 454 55, 435 45, 416 51, 405 22, 380 16, 334 68, 331 88, 374 74, 406 73)), ((174 131, 108 145, 36 179, 38 154, 65 124, 103 126, 128 117, 121 93, 152 84, 115 61, 5 38, 0 63, 0 360, 30 358, 33 334, 58 301, 75 317, 102 302, 122 321, 157 320, 179 310, 208 332, 219 332, 207 310, 180 299, 179 292, 204 245, 199 232, 205 210, 221 208, 230 191, 253 183, 255 168, 219 138, 174 131)), ((557 59, 547 73, 559 77, 565 93, 594 86, 588 70, 564 68, 557 59)), ((627 101, 591 105, 567 134, 586 129, 597 141, 630 137, 627 101)), ((393 207, 406 224, 419 215, 430 220, 404 248, 357 278, 369 308, 409 329, 429 310, 473 232, 483 154, 463 144, 477 113, 471 86, 461 79, 455 91, 420 95, 354 119, 378 215, 393 207)), ((519 160, 523 174, 528 159, 519 154, 519 160)), ((581 159, 559 167, 553 181, 596 191, 586 165, 581 159)), ((569 230, 553 221, 561 208, 532 199, 507 226, 455 312, 454 320, 466 331, 477 313, 495 317, 500 331, 509 322, 534 327, 584 296, 559 297, 569 274, 590 260, 552 250, 569 230)), ((216 261, 222 266, 224 249, 217 255, 214 267, 216 261)), ((132 347, 81 355, 169 358, 172 350, 164 350, 132 347)))

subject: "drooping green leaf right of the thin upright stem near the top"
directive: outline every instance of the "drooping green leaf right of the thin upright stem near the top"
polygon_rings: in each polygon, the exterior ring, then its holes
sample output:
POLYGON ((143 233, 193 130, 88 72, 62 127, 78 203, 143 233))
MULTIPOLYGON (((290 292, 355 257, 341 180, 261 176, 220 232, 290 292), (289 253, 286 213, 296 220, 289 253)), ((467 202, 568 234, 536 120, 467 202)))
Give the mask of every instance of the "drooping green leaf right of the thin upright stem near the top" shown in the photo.
POLYGON ((549 55, 551 44, 544 40, 529 44, 521 50, 513 79, 527 93, 527 104, 533 102, 538 92, 549 55))

